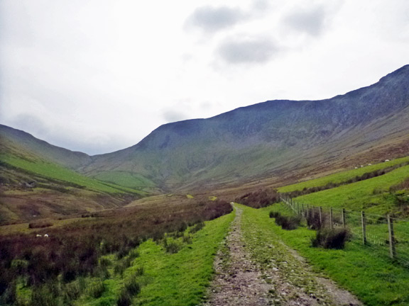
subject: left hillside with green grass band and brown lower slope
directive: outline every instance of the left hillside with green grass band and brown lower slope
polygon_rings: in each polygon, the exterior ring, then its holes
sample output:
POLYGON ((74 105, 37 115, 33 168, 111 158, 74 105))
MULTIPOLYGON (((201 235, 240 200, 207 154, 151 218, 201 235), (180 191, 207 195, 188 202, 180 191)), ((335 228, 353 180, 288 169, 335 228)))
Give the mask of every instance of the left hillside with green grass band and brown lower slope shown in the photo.
POLYGON ((146 193, 74 169, 91 157, 0 125, 0 225, 119 208, 146 193))

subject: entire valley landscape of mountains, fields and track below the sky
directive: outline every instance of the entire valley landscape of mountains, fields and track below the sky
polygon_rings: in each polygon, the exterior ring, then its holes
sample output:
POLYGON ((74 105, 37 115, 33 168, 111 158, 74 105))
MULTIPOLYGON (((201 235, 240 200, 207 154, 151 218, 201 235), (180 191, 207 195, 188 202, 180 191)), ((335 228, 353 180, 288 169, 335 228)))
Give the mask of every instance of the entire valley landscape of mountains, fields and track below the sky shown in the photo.
POLYGON ((408 84, 94 156, 0 125, 0 305, 408 305, 408 84))

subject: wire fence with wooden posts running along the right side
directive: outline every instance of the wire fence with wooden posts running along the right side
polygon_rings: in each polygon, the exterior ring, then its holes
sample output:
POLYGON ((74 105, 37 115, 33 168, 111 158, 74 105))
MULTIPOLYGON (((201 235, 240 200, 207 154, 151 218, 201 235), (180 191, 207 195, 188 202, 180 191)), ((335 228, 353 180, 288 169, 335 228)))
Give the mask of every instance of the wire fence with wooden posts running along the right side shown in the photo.
POLYGON ((388 254, 391 259, 409 266, 409 221, 391 215, 373 215, 345 208, 326 208, 299 203, 281 195, 283 203, 298 215, 315 214, 323 227, 348 228, 352 238, 365 247, 388 254))

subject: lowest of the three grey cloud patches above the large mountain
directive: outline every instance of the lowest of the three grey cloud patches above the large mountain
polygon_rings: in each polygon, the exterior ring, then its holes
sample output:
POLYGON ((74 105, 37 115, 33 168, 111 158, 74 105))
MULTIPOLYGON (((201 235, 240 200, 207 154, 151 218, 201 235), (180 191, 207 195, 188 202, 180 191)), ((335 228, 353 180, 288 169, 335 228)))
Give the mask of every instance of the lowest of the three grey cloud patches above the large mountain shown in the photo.
POLYGON ((217 55, 228 64, 257 64, 270 61, 278 51, 268 38, 236 38, 222 42, 217 55))

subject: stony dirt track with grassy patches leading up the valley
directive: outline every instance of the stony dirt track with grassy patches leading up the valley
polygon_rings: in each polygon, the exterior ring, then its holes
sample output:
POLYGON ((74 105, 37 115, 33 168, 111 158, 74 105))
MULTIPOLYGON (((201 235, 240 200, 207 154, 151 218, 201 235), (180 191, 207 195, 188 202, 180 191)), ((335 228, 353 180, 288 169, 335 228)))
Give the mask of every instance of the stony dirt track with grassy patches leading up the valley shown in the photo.
POLYGON ((253 261, 241 233, 242 212, 236 207, 231 232, 217 254, 217 274, 205 306, 362 305, 331 280, 315 276, 302 257, 280 242, 287 249, 286 258, 291 260, 274 258, 272 252, 272 264, 262 267, 253 261))

